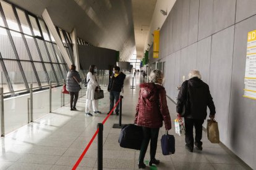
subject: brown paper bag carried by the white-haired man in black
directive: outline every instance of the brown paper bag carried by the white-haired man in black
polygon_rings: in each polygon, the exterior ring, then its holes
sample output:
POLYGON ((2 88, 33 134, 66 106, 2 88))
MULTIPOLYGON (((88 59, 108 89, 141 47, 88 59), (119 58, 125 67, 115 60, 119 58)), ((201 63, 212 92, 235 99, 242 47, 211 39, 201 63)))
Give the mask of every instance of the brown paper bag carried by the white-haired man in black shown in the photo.
POLYGON ((207 138, 213 144, 220 143, 218 123, 215 121, 215 119, 207 120, 207 138))

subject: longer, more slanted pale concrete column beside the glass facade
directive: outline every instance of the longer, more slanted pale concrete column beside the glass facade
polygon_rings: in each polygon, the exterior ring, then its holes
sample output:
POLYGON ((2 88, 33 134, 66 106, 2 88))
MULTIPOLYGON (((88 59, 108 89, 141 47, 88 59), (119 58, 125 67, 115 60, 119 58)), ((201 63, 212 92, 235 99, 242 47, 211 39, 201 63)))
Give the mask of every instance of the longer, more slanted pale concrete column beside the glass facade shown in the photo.
POLYGON ((61 41, 61 38, 59 38, 59 34, 57 33, 57 30, 53 24, 53 21, 51 20, 51 17, 49 16, 47 9, 43 11, 42 17, 45 20, 45 23, 48 26, 49 31, 51 31, 51 34, 53 34, 56 44, 59 47, 59 50, 61 51, 61 54, 63 55, 64 60, 66 61, 69 67, 70 65, 72 65, 72 62, 69 59, 69 54, 67 54, 67 51, 65 50, 65 47, 61 41))

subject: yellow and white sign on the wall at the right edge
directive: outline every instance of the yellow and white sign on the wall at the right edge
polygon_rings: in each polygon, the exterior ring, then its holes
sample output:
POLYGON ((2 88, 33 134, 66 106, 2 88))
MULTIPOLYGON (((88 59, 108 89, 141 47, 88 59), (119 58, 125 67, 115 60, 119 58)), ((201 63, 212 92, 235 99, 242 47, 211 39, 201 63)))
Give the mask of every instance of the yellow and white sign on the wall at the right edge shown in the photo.
POLYGON ((247 36, 244 97, 256 100, 256 30, 247 36))

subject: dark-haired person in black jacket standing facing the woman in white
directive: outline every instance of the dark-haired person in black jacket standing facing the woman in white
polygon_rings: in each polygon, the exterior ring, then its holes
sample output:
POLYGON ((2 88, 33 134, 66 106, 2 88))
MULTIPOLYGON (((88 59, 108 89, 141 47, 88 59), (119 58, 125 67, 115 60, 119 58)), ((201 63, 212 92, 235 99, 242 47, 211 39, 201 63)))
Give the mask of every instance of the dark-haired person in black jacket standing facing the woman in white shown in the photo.
MULTIPOLYGON (((120 67, 115 66, 113 68, 113 75, 111 76, 111 79, 109 80, 108 84, 108 92, 109 92, 109 99, 110 99, 110 107, 109 111, 112 110, 114 107, 114 100, 119 100, 120 92, 122 91, 122 87, 124 86, 124 79, 126 78, 126 75, 122 72, 120 72, 120 67)), ((115 103, 116 103, 115 102, 115 103)), ((116 115, 119 115, 119 103, 116 107, 116 115)))

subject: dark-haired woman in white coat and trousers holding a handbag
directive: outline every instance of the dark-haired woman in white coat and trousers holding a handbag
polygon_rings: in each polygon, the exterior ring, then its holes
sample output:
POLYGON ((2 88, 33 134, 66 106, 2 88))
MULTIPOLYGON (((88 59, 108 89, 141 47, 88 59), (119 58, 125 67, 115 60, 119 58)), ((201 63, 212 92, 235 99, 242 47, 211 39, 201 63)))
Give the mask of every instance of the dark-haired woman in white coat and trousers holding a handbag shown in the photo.
POLYGON ((94 93, 95 89, 100 87, 98 83, 98 79, 96 78, 97 68, 95 65, 90 65, 89 72, 86 77, 87 84, 87 94, 86 94, 86 104, 85 104, 85 115, 86 116, 93 116, 90 113, 90 110, 93 109, 94 113, 101 113, 98 110, 99 102, 98 100, 94 100, 94 93))

